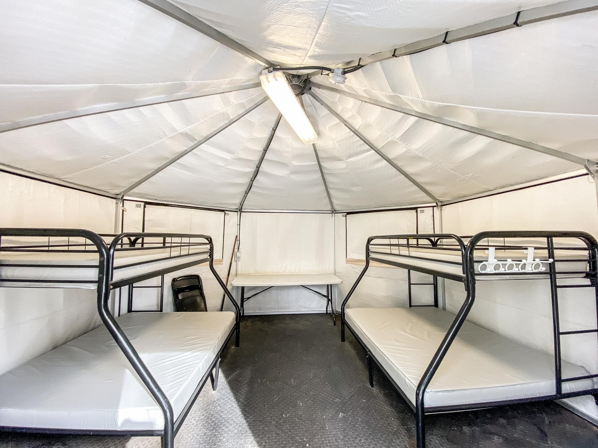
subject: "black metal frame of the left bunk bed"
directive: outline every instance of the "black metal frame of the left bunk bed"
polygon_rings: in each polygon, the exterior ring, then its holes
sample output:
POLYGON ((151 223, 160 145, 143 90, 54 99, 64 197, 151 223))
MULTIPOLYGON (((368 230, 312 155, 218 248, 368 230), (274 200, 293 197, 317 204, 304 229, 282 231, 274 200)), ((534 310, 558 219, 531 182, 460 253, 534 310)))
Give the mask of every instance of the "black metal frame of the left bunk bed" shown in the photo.
MULTIPOLYGON (((103 235, 103 236, 111 236, 111 235, 103 235)), ((145 243, 145 244, 152 244, 152 243, 145 243)), ((154 243, 160 244, 160 243, 154 243)), ((167 234, 167 233, 122 233, 119 235, 115 235, 114 239, 111 243, 108 244, 102 238, 102 235, 96 234, 94 232, 85 230, 85 229, 39 229, 39 228, 2 228, 0 229, 0 251, 22 251, 22 252, 47 252, 50 253, 97 253, 99 255, 98 263, 97 263, 97 280, 94 281, 81 281, 81 280, 36 280, 36 279, 1 279, 0 278, 0 287, 2 283, 39 283, 41 287, 47 283, 97 283, 97 311, 102 319, 102 323, 108 329, 110 335, 114 338, 115 342, 117 343, 118 347, 121 349, 129 363, 132 365, 135 372, 139 375, 139 378, 147 387, 149 393, 151 394, 152 398, 160 407, 163 415, 164 415, 164 429, 163 430, 97 430, 97 429, 63 429, 63 428, 20 428, 14 426, 0 426, 1 431, 21 431, 21 432, 38 432, 42 434, 80 434, 80 435, 155 435, 161 437, 162 446, 164 448, 174 448, 174 438, 176 433, 178 432, 179 428, 181 427, 183 421, 187 417, 187 414, 191 410, 191 406, 197 399, 200 391, 202 390, 203 386, 205 385, 206 381, 208 380, 209 376, 212 376, 213 381, 213 388, 216 389, 218 385, 218 367, 219 367, 219 360, 220 354, 222 349, 227 345, 228 341, 230 340, 233 333, 235 333, 235 346, 239 346, 239 332, 240 332, 240 308, 237 302, 234 300, 234 297, 227 289, 225 284, 222 282, 222 279, 216 272, 213 266, 213 241, 212 237, 208 235, 194 235, 194 234, 167 234), (48 237, 48 244, 44 246, 5 246, 2 247, 2 237, 48 237), (51 237, 62 237, 68 238, 67 244, 50 244, 49 238, 51 237), (70 238, 84 238, 86 240, 85 244, 69 244, 70 238), (145 238, 162 238, 163 242, 161 243, 162 246, 145 246, 142 247, 135 247, 135 243, 139 240, 144 241, 145 238), (169 243, 167 243, 166 239, 170 238, 169 243), (180 239, 180 241, 173 242, 173 238, 180 239), (128 243, 124 243, 124 240, 128 240, 128 243), (183 243, 183 240, 187 239, 187 243, 183 243), (191 243, 191 240, 205 240, 205 243, 191 243), (87 241, 90 241, 91 244, 88 244, 87 241), (170 244, 170 246, 168 245, 170 244), (83 246, 84 249, 73 249, 71 250, 70 247, 81 247, 83 246), (87 246, 93 246, 93 250, 88 250, 87 246), (185 256, 193 256, 201 254, 201 252, 191 252, 191 247, 197 246, 209 246, 209 250, 207 252, 207 257, 201 260, 193 260, 193 262, 186 262, 185 256), (57 247, 68 247, 66 249, 59 249, 57 247), (187 247, 189 251, 187 254, 180 254, 182 248, 187 247), (151 260, 152 262, 161 261, 165 259, 180 259, 181 263, 177 264, 176 266, 169 266, 168 268, 158 269, 156 271, 148 272, 147 274, 135 275, 134 277, 124 278, 122 280, 114 281, 112 280, 114 276, 114 270, 123 267, 129 267, 135 265, 136 263, 132 263, 126 266, 114 266, 114 257, 117 251, 121 250, 151 250, 156 248, 170 248, 170 256, 164 257, 161 259, 154 259, 151 260), (179 255, 172 256, 172 248, 180 248, 179 255), (109 298, 110 293, 112 290, 118 289, 123 286, 132 285, 133 283, 137 283, 139 281, 148 280, 149 278, 154 278, 158 276, 163 276, 164 274, 169 274, 170 272, 178 271, 179 269, 184 269, 190 266, 198 265, 200 263, 209 262, 209 268, 212 272, 213 276, 218 281, 218 284, 227 295, 228 299, 233 303, 235 309, 235 326, 227 336, 226 342, 218 353, 216 354, 214 360, 210 364, 209 370, 200 380, 197 385, 197 388, 193 392, 188 400, 187 404, 181 413, 176 419, 173 415, 172 406, 166 394, 160 388, 160 385, 155 381, 154 377, 149 372, 147 366, 145 366, 144 362, 139 357, 138 352, 136 351, 135 347, 130 342, 129 338, 123 332, 121 327, 118 325, 117 321, 112 315, 111 311, 109 310, 109 298)), ((142 264, 145 262, 140 262, 138 264, 142 264)), ((30 268, 60 268, 60 267, 68 267, 68 268, 87 268, 89 269, 90 266, 93 265, 40 265, 35 263, 0 263, 1 266, 22 266, 22 267, 30 267, 30 268)))

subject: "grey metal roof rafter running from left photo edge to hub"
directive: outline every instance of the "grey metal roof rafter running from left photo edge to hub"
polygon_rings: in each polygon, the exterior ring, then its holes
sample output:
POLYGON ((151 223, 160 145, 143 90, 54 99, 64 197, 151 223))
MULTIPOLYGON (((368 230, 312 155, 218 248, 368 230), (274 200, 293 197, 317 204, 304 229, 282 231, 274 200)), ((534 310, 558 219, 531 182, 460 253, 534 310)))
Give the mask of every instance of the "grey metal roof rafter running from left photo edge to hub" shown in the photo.
POLYGON ((80 116, 97 115, 98 113, 124 111, 125 109, 142 108, 144 106, 154 106, 163 103, 172 103, 175 101, 190 100, 194 98, 201 98, 205 96, 219 95, 222 93, 229 93, 238 90, 246 90, 249 88, 260 87, 259 82, 252 82, 251 84, 234 85, 230 87, 211 88, 203 92, 196 93, 175 93, 169 96, 145 98, 142 100, 130 101, 125 103, 112 103, 109 105, 93 106, 91 108, 78 109, 77 111, 48 113, 47 115, 35 116, 33 118, 25 118, 19 121, 13 121, 0 124, 0 133, 7 131, 14 131, 15 129, 36 126, 38 124, 51 123, 54 121, 62 121, 71 118, 78 118, 80 116))

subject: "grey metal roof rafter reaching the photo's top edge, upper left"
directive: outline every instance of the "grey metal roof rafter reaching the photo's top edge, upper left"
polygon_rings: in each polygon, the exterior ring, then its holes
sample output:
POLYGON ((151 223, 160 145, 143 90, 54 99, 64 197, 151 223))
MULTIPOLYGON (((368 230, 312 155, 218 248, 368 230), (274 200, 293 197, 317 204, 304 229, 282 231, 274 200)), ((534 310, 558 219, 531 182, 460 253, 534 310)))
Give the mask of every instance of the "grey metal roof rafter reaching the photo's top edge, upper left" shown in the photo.
POLYGON ((225 47, 231 48, 231 50, 234 50, 237 53, 240 53, 243 56, 246 56, 249 59, 258 62, 265 67, 274 66, 273 63, 261 57, 259 54, 255 53, 255 51, 249 50, 249 48, 245 47, 245 45, 239 44, 239 42, 235 41, 234 39, 231 39, 224 33, 219 32, 214 27, 209 26, 209 24, 197 19, 197 17, 193 16, 193 14, 187 13, 187 11, 182 10, 178 6, 175 6, 166 0, 139 1, 154 8, 155 10, 160 11, 160 13, 166 14, 167 16, 170 16, 173 19, 178 20, 181 23, 184 23, 185 25, 193 28, 194 30, 199 31, 203 35, 206 35, 209 38, 214 39, 216 42, 225 45, 225 47))

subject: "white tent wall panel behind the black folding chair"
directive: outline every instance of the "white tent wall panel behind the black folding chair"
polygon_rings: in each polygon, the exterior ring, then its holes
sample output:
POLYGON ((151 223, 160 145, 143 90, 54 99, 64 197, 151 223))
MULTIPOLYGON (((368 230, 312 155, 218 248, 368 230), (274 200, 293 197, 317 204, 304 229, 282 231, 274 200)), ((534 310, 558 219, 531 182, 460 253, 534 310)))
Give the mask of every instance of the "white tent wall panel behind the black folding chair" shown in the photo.
MULTIPOLYGON (((145 232, 191 233, 212 237, 214 266, 222 281, 226 281, 234 237, 237 234, 237 213, 148 204, 145 206, 144 226, 144 202, 126 200, 124 205, 126 211, 124 212, 123 231, 125 232, 141 232, 143 229, 145 232)), ((163 311, 170 312, 173 310, 172 289, 170 288, 172 279, 188 274, 198 274, 202 278, 208 310, 218 311, 222 303, 223 291, 207 265, 192 266, 164 275, 163 311)), ((231 274, 234 275, 234 266, 231 274)), ((135 286, 160 286, 160 278, 152 278, 135 286)), ((158 288, 133 288, 133 310, 149 311, 159 309, 159 307, 160 290, 158 288)), ((224 300, 224 309, 229 311, 234 309, 228 299, 224 300)), ((121 314, 127 312, 126 288, 121 291, 120 312, 121 314)))

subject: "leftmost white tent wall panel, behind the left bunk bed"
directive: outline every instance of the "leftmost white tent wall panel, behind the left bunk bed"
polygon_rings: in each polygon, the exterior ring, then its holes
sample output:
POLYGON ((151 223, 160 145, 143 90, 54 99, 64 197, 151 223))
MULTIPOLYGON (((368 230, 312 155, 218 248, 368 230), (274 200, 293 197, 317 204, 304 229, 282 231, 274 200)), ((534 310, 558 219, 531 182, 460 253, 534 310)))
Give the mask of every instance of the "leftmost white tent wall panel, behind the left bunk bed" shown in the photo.
MULTIPOLYGON (((115 201, 0 173, 0 226, 114 231, 115 201)), ((0 288, 0 373, 100 324, 96 290, 0 288)))

